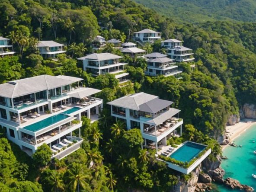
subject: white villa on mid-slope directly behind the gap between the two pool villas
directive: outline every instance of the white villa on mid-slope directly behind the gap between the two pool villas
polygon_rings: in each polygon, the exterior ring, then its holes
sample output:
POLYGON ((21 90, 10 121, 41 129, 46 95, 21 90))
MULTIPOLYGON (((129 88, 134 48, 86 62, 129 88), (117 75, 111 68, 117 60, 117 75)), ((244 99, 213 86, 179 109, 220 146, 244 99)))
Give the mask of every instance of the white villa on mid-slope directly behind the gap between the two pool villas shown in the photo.
POLYGON ((111 53, 93 53, 78 60, 83 60, 83 70, 87 73, 93 76, 114 74, 121 84, 129 81, 129 74, 125 73, 125 65, 128 63, 120 63, 121 58, 123 57, 111 53))

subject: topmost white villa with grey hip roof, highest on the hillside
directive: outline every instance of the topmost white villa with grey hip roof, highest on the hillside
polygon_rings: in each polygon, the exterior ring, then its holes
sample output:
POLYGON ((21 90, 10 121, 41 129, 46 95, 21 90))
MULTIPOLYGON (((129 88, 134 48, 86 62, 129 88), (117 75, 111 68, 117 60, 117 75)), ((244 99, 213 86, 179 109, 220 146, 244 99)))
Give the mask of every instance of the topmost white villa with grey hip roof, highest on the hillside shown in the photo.
POLYGON ((156 32, 151 29, 143 29, 142 31, 133 33, 133 40, 138 42, 153 43, 158 39, 161 39, 160 32, 156 32))

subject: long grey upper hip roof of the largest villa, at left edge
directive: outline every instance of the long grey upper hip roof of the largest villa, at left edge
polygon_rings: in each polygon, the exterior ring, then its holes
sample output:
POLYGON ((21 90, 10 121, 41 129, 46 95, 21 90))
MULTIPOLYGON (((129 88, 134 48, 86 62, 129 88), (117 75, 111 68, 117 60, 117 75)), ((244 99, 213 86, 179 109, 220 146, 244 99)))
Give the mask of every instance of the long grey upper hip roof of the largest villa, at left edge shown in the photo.
POLYGON ((56 87, 69 85, 83 79, 68 76, 40 75, 26 79, 10 81, 0 85, 0 96, 15 98, 36 93, 43 90, 51 90, 56 87))

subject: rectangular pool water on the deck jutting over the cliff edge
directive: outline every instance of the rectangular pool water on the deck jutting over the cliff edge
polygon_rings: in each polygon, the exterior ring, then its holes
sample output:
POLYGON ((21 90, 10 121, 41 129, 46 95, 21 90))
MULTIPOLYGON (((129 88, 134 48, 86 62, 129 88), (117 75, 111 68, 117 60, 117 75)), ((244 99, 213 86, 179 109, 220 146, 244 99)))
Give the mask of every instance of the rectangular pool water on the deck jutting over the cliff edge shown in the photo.
POLYGON ((201 144, 195 144, 192 142, 187 142, 173 154, 170 155, 171 158, 182 161, 189 162, 194 157, 196 157, 206 146, 201 144))

